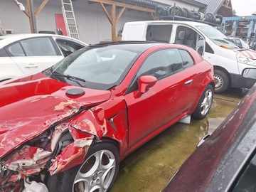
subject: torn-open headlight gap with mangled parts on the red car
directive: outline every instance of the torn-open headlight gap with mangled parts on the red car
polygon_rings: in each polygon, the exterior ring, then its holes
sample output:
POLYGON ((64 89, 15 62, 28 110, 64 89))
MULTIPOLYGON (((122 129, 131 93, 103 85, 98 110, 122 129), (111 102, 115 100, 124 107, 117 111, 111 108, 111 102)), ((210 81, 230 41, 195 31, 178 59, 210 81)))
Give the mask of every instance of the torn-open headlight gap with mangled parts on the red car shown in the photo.
MULTIPOLYGON (((44 188, 42 185, 48 177, 48 169, 53 166, 55 156, 74 141, 68 124, 63 122, 4 156, 0 161, 0 191, 14 190, 21 185, 27 188, 37 186, 37 190, 38 187, 44 188)), ((81 146, 82 150, 85 145, 81 146)), ((57 168, 58 164, 55 164, 57 168)))

